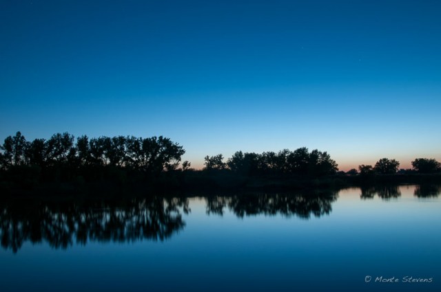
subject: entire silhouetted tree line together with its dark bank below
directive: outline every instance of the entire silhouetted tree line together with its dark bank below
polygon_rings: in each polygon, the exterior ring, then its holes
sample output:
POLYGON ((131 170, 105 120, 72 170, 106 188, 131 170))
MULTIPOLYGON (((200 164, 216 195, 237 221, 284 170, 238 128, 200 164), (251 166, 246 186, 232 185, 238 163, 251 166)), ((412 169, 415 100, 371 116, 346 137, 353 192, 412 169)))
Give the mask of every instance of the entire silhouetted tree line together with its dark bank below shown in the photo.
MULTIPOLYGON (((99 182, 113 186, 141 183, 149 188, 203 188, 216 186, 246 188, 247 186, 298 186, 356 184, 389 179, 398 173, 431 174, 441 172, 435 159, 417 158, 412 170, 399 170, 396 159, 382 158, 374 166, 360 165, 358 170, 339 172, 338 164, 327 152, 302 147, 278 153, 244 153, 237 151, 224 159, 223 155, 205 157, 203 170, 190 168, 181 157, 183 146, 160 137, 74 137, 57 133, 50 139, 26 141, 17 132, 0 145, 0 189, 17 186, 39 186, 39 183, 99 182), (404 172, 403 172, 404 171, 404 172), (314 183, 305 183, 305 182, 314 183)), ((398 176, 394 176, 395 180, 398 176)), ((414 176, 415 177, 415 176, 414 176)), ((421 177, 421 176, 420 176, 421 177)), ((431 177, 431 176, 424 176, 431 177)), ((432 176, 433 177, 433 176, 432 176)), ((400 179, 405 179, 400 176, 400 179)), ((436 179, 436 178, 435 178, 436 179)), ((390 179, 389 179, 390 180, 390 179)), ((408 179, 409 180, 409 179, 408 179)))

